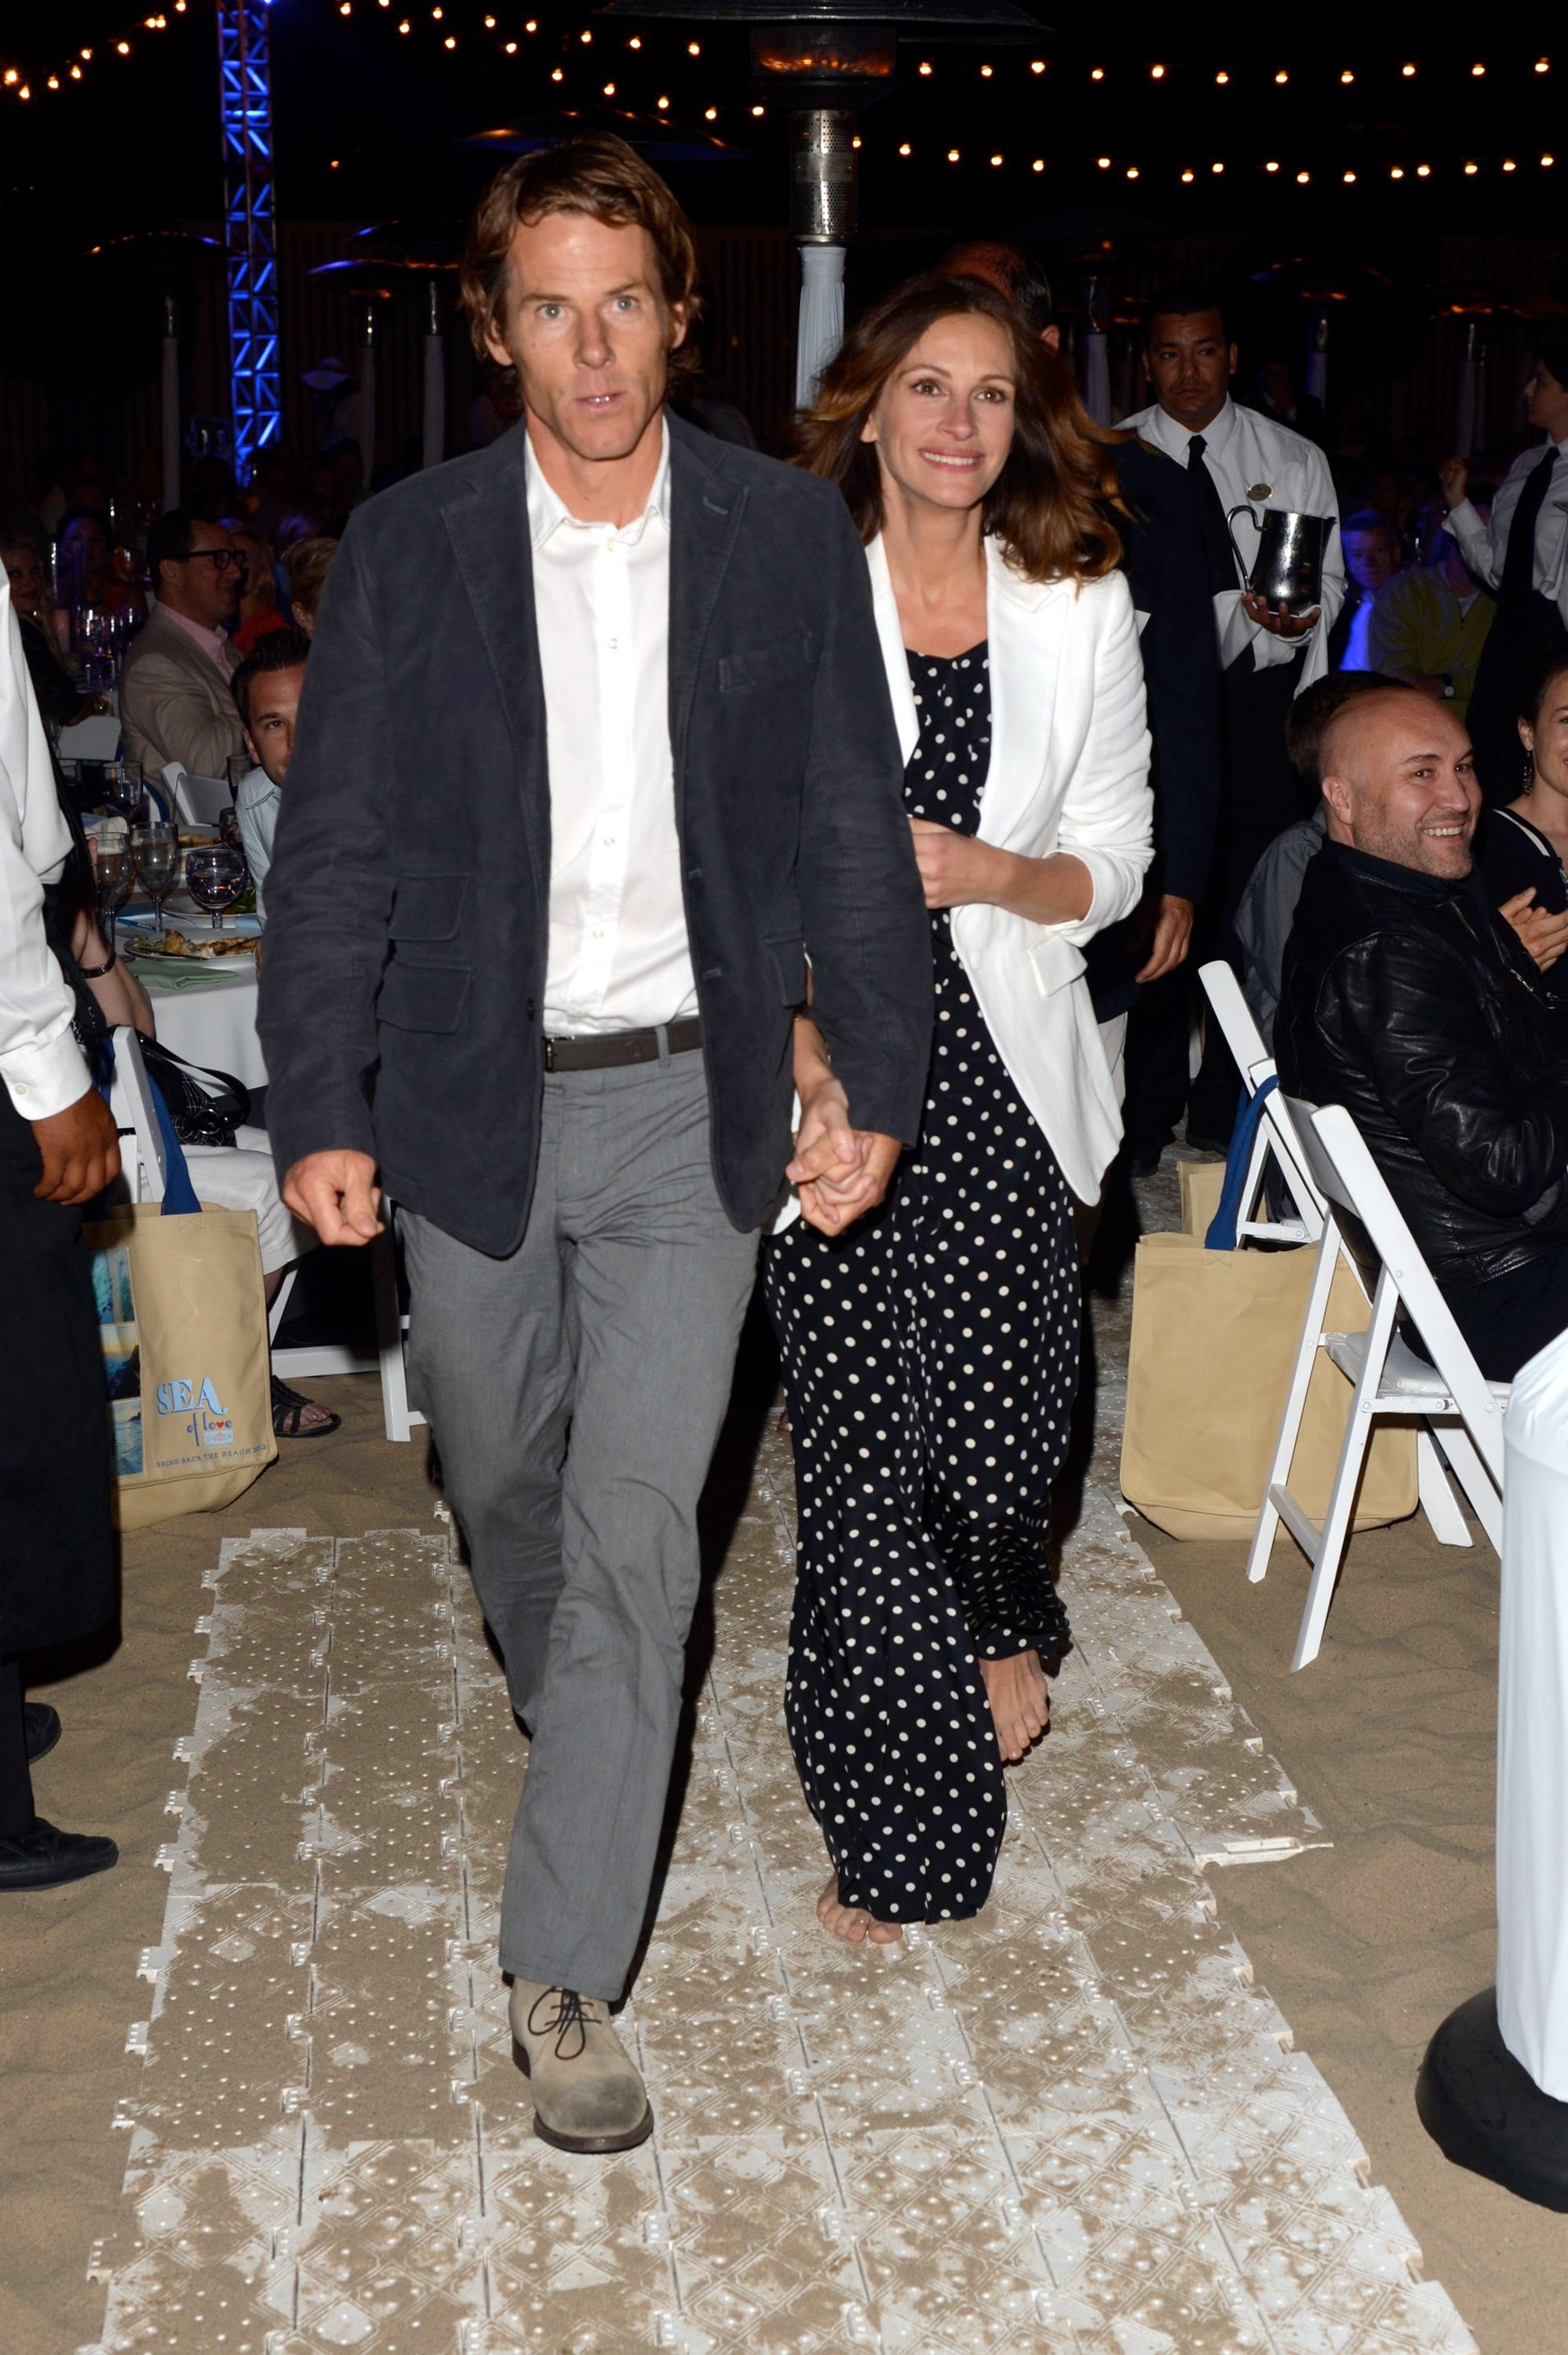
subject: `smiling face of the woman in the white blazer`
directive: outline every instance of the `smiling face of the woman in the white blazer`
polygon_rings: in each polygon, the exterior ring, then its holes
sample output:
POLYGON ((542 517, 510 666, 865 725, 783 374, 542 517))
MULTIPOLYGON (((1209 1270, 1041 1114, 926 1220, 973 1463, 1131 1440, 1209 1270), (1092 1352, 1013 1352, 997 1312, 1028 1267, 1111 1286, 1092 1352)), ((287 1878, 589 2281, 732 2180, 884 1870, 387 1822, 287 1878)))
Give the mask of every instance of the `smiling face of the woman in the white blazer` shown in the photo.
POLYGON ((954 311, 888 377, 862 440, 883 487, 930 506, 979 506, 1012 450, 1012 344, 991 318, 954 311))

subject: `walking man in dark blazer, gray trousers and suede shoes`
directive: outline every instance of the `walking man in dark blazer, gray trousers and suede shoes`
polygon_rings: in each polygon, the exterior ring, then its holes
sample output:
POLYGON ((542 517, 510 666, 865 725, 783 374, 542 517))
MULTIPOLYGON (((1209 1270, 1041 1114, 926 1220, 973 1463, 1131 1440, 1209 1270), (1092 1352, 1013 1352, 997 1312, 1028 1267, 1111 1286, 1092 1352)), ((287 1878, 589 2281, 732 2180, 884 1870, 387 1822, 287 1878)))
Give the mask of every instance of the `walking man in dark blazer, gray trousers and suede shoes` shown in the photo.
POLYGON ((285 1196, 330 1243, 379 1232, 377 1178, 398 1203, 412 1392, 532 1736, 501 1966, 567 2150, 652 2127, 607 2006, 758 1227, 786 1163, 881 1199, 930 1050, 859 539, 664 414, 695 285, 622 141, 497 177, 464 299, 523 424, 356 513, 266 883, 285 1196), (791 1161, 808 958, 843 1100, 791 1161))

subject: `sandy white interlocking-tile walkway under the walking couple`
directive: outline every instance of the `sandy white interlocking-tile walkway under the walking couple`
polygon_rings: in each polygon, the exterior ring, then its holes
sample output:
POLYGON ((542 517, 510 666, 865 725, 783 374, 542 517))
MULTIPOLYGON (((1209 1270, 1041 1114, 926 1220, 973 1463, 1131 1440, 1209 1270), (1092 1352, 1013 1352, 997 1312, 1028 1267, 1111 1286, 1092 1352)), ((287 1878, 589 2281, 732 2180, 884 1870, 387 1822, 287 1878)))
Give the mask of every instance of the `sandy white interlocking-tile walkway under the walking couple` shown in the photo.
POLYGON ((994 1905, 826 1941, 782 1731, 789 1470, 716 1597, 626 2023, 655 2143, 530 2134, 494 1971, 523 1745, 461 1568, 228 1543, 92 2355, 1460 2355, 1201 1860, 1321 1839, 1109 1500, 994 1905))

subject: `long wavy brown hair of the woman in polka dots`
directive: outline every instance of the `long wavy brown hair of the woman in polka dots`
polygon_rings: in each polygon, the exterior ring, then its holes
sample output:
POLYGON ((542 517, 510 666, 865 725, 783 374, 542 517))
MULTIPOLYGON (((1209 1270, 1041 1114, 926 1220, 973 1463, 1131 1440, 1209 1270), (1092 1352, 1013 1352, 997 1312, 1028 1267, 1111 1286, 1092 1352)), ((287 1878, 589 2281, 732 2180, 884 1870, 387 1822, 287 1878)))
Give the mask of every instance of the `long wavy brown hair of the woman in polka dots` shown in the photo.
POLYGON ((939 318, 989 318, 1012 346, 1015 426, 1008 464, 982 504, 1024 579, 1092 582, 1121 563, 1116 445, 1099 436, 1078 400, 1067 363, 1026 334, 996 287, 982 278, 935 271, 895 287, 866 311, 838 346, 817 400, 796 433, 796 464, 843 490, 864 542, 883 528, 883 473, 876 443, 862 429, 897 367, 939 318))

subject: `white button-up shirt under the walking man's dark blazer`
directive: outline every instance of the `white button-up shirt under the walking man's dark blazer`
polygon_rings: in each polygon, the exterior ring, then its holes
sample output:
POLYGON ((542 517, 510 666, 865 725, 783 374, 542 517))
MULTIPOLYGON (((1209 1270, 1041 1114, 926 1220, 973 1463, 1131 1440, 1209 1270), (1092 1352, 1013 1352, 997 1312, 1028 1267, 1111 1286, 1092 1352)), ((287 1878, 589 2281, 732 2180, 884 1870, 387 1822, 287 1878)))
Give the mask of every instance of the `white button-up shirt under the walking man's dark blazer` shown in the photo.
POLYGON ((551 763, 544 1027, 697 1013, 669 744, 669 426, 636 523, 579 523, 527 450, 551 763))

